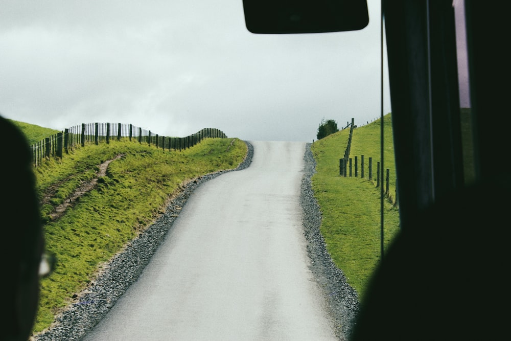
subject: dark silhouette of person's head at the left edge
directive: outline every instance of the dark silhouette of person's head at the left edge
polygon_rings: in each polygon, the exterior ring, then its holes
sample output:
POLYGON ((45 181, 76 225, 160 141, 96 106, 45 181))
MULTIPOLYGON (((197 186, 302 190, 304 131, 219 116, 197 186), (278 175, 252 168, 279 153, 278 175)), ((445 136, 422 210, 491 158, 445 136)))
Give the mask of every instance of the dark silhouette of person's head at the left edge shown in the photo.
POLYGON ((31 153, 25 136, 0 117, 2 241, 4 266, 0 338, 26 341, 39 299, 39 265, 44 251, 31 153), (10 221, 10 223, 7 223, 10 221))

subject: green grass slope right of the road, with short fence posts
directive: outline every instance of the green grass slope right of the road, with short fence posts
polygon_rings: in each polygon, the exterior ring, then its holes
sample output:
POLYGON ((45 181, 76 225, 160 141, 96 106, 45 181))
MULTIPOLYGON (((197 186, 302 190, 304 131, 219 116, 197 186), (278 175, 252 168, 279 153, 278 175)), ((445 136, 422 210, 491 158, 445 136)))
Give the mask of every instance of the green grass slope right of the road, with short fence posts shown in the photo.
MULTIPOLYGON (((390 115, 385 116, 384 127, 385 168, 395 174, 390 115)), ((344 129, 312 145, 317 163, 312 187, 323 216, 320 230, 327 249, 362 301, 380 260, 380 189, 376 188, 376 181, 360 178, 360 174, 359 177, 339 176, 339 158, 344 154, 348 138, 349 129, 344 129)), ((373 178, 376 178, 376 162, 380 158, 379 140, 380 120, 354 130, 350 157, 373 157, 373 178)), ((395 188, 395 175, 393 186, 395 188)), ((387 247, 399 230, 399 211, 386 199, 384 212, 387 247)))

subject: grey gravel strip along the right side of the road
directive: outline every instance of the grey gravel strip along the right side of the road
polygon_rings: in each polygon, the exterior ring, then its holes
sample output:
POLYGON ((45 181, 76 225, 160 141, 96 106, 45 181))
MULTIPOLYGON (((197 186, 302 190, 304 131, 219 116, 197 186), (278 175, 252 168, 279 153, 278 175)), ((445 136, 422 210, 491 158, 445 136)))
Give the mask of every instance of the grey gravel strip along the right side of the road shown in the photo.
POLYGON ((334 320, 336 336, 339 340, 347 340, 359 310, 358 293, 347 283, 344 273, 333 262, 319 230, 322 216, 311 186, 311 177, 316 172, 316 161, 310 147, 311 144, 308 143, 304 154, 304 177, 300 188, 304 234, 311 259, 310 269, 323 290, 327 309, 334 320))

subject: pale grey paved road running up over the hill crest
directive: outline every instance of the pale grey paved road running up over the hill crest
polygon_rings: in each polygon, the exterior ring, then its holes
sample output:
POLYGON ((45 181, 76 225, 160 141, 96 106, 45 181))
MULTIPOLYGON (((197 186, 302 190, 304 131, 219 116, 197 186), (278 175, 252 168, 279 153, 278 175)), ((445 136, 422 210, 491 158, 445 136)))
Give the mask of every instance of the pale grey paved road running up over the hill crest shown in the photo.
POLYGON ((336 339, 303 236, 305 143, 251 143, 251 166, 195 190, 84 340, 336 339))

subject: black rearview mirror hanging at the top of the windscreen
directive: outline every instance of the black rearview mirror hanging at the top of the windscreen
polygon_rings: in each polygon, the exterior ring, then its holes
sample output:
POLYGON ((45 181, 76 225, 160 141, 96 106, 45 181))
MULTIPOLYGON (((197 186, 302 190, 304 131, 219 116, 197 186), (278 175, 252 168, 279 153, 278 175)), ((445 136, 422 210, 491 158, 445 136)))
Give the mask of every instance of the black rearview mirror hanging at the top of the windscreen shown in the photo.
POLYGON ((243 0, 252 33, 361 30, 369 23, 366 0, 243 0))

